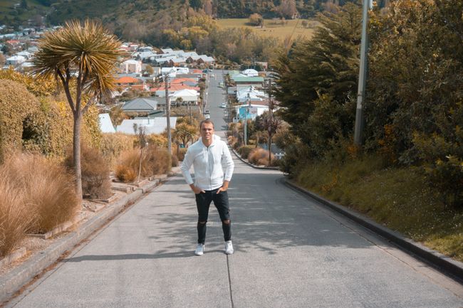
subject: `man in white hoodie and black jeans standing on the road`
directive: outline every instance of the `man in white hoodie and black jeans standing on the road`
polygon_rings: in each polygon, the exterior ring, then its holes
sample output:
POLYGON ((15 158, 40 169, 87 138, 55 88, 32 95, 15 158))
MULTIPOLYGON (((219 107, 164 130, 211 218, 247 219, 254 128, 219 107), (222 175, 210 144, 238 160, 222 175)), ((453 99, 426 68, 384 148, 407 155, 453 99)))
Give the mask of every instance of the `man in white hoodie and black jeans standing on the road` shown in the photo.
POLYGON ((194 195, 198 210, 198 244, 195 255, 204 253, 206 240, 206 223, 209 214, 209 206, 214 201, 214 206, 219 211, 224 231, 225 253, 233 253, 231 244, 231 221, 229 214, 229 199, 227 189, 233 174, 234 163, 231 159, 227 144, 214 135, 214 123, 204 120, 199 124, 201 138, 192 144, 185 154, 182 163, 182 174, 194 195), (193 165, 194 182, 189 173, 193 165))

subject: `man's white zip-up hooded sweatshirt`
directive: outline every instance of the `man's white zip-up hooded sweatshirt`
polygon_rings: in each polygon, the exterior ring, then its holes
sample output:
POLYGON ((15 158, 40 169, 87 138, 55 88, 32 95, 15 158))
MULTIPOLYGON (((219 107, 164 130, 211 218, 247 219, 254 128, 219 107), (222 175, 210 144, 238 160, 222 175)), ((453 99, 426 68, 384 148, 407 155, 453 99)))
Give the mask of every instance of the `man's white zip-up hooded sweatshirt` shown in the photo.
POLYGON ((204 191, 212 191, 221 187, 224 181, 230 181, 234 169, 227 144, 215 134, 209 147, 199 138, 188 148, 180 167, 188 185, 193 184, 192 175, 189 173, 192 165, 194 186, 204 191))

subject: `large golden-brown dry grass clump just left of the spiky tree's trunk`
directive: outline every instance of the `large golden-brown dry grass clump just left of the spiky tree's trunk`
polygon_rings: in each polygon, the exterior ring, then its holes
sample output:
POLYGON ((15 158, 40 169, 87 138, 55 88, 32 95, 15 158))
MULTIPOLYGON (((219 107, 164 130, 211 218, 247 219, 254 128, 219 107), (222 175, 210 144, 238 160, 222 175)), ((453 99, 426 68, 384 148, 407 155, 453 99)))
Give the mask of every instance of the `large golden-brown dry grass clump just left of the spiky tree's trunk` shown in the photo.
POLYGON ((78 198, 73 176, 61 164, 37 154, 11 156, 4 166, 6 179, 22 195, 32 223, 29 233, 46 233, 76 216, 78 198))

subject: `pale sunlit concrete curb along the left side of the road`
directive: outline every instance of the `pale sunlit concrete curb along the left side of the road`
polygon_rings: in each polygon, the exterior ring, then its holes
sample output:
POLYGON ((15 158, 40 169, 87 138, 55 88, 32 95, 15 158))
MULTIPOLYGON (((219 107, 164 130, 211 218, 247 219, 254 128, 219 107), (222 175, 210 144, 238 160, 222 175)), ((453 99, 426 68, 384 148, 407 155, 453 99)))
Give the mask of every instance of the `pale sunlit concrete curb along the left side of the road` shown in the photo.
MULTIPOLYGON (((167 181, 167 176, 162 178, 167 181)), ((155 179, 145 187, 140 187, 132 193, 123 196, 115 203, 108 205, 103 211, 90 218, 88 221, 80 225, 77 230, 69 233, 65 237, 58 240, 56 243, 48 246, 45 250, 31 257, 29 260, 14 268, 6 275, 0 277, 0 306, 2 302, 10 299, 15 292, 21 287, 30 282, 33 277, 39 275, 47 267, 53 265, 56 260, 68 250, 72 250, 74 246, 80 243, 85 238, 88 238, 95 230, 105 225, 111 218, 118 216, 120 211, 130 203, 140 198, 144 193, 147 193, 155 188, 161 179, 155 179)))

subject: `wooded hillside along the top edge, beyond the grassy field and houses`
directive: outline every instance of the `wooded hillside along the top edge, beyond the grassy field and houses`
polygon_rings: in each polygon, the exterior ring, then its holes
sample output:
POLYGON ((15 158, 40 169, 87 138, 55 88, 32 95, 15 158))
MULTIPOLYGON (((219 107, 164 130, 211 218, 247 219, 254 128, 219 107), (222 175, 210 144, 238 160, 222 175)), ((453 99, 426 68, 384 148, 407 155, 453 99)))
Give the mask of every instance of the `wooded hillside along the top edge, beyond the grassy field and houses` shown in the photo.
MULTIPOLYGON (((212 18, 248 18, 253 13, 264 18, 311 18, 333 3, 343 5, 349 1, 355 0, 0 0, 0 24, 36 25, 41 23, 41 16, 46 16, 46 23, 57 25, 71 18, 90 17, 110 23, 117 31, 129 20, 182 21, 189 10, 204 11, 212 18)), ((377 2, 383 5, 385 1, 377 2)))

